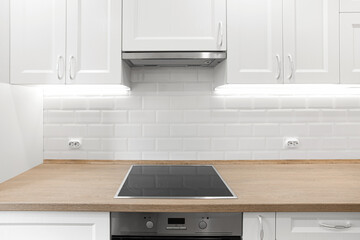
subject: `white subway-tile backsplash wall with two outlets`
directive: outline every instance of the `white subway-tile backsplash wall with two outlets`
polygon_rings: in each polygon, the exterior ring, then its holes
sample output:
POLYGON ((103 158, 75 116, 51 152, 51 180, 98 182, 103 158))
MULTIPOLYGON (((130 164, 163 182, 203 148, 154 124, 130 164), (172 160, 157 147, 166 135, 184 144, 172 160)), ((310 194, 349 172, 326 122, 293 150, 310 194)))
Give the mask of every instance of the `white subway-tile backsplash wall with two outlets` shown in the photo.
MULTIPOLYGON (((45 94, 46 159, 358 159, 360 95, 221 96, 213 71, 138 69, 128 96, 45 94), (283 149, 285 136, 300 138, 283 149), (68 137, 82 137, 80 151, 68 137)), ((291 93, 290 93, 291 95, 291 93)))

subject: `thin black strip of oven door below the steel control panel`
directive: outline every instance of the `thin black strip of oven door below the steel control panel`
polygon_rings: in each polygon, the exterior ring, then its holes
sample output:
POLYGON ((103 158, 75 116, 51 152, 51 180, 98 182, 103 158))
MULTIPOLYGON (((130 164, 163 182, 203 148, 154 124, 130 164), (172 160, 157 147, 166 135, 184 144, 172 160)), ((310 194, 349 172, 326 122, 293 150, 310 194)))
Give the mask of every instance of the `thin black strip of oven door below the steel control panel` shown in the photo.
POLYGON ((241 240, 241 236, 112 236, 112 240, 241 240))

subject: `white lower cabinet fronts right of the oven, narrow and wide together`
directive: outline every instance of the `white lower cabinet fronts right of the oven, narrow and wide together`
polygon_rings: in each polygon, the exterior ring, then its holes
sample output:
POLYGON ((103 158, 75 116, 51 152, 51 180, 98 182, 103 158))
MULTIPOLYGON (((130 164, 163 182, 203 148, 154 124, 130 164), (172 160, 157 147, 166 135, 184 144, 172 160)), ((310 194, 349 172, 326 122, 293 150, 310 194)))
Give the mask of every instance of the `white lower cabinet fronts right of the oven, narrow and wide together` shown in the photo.
POLYGON ((244 213, 243 240, 359 240, 360 213, 244 213))

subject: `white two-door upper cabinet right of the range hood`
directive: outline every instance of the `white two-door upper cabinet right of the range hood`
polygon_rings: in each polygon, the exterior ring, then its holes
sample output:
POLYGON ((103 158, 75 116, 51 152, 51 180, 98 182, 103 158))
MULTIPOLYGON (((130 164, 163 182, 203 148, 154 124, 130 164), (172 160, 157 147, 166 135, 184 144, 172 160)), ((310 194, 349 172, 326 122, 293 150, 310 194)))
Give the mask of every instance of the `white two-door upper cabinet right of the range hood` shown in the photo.
POLYGON ((226 83, 339 83, 339 0, 227 4, 226 83))

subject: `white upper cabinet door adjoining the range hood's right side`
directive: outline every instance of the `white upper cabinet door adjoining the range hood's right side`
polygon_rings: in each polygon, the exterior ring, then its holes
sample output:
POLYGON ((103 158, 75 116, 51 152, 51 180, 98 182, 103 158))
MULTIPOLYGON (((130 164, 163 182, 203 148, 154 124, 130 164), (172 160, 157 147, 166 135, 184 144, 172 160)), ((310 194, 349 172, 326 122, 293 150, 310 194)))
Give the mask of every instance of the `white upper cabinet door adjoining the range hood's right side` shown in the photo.
POLYGON ((228 83, 283 83, 282 0, 228 0, 227 54, 228 83))

